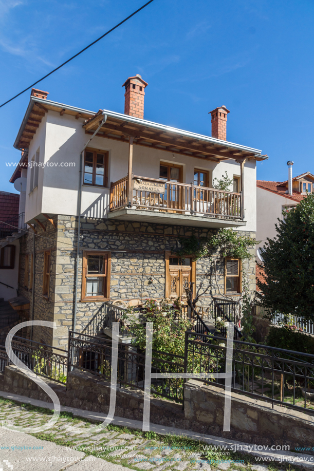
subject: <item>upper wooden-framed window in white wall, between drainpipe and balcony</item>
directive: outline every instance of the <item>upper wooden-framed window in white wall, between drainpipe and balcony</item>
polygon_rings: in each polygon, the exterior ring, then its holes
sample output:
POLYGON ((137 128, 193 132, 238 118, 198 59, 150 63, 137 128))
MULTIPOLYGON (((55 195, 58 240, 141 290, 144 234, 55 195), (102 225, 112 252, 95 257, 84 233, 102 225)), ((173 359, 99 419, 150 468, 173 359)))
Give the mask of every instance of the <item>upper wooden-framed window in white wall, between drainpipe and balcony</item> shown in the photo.
POLYGON ((107 186, 108 153, 103 150, 85 150, 84 184, 107 186))

